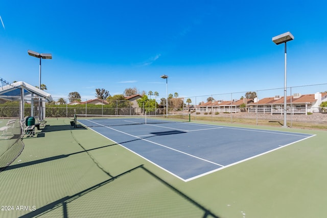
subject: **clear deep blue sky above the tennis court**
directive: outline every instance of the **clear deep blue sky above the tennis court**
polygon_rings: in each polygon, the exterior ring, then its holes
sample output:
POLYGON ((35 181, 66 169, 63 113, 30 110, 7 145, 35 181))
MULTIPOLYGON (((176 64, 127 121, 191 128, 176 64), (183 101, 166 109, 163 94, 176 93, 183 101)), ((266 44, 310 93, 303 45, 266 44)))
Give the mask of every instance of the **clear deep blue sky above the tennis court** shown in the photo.
POLYGON ((241 96, 284 87, 284 45, 272 37, 290 31, 287 85, 327 83, 326 10, 326 1, 301 0, 2 1, 0 77, 38 85, 33 50, 53 55, 41 80, 54 97, 136 87, 164 98, 162 74, 179 96, 241 96))

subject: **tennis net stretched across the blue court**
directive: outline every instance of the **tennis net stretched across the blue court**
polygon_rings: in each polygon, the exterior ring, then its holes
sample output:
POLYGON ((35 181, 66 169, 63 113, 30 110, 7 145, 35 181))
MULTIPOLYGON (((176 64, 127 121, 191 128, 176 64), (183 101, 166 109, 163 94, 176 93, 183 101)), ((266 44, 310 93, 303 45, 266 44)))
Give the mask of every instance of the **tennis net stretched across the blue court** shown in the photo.
POLYGON ((158 115, 96 115, 76 114, 76 124, 86 127, 124 126, 139 124, 162 124, 190 122, 191 116, 187 114, 158 114, 158 115))

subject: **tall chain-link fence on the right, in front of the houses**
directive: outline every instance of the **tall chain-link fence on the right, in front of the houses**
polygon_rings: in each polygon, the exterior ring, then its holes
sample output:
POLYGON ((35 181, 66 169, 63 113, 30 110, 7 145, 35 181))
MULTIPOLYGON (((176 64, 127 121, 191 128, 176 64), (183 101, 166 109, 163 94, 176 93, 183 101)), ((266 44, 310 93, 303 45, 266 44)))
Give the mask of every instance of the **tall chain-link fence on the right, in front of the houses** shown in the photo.
MULTIPOLYGON (((327 84, 303 85, 287 88, 286 113, 288 126, 302 122, 302 126, 327 126, 327 84)), ((184 111, 193 120, 256 125, 282 125, 284 122, 284 88, 250 90, 184 98, 184 111), (246 98, 251 95, 250 98, 246 98)))

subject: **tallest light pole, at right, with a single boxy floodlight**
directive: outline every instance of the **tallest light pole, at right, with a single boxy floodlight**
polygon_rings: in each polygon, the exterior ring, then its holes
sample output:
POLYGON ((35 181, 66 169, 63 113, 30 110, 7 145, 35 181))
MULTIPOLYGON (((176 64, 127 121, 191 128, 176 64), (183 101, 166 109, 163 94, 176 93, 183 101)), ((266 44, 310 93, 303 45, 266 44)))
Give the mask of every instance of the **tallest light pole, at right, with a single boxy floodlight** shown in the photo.
MULTIPOLYGON (((291 41, 294 39, 294 36, 290 33, 283 33, 281 35, 272 37, 272 41, 278 45, 278 44, 285 44, 285 63, 284 63, 284 126, 283 127, 287 127, 287 120, 286 120, 286 114, 287 114, 287 86, 286 86, 286 42, 291 41)), ((292 98, 292 97, 291 97, 292 98)))

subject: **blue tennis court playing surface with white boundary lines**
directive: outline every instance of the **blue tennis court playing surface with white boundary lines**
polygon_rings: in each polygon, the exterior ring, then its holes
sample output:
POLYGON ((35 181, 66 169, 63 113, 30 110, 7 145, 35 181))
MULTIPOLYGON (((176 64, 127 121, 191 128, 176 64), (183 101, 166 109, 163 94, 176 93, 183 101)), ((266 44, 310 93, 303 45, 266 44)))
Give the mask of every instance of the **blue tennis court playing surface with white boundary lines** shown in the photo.
POLYGON ((185 182, 314 136, 195 123, 78 122, 185 182))

